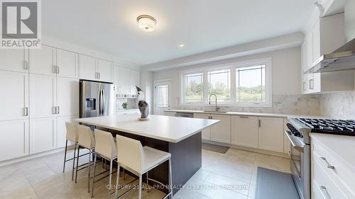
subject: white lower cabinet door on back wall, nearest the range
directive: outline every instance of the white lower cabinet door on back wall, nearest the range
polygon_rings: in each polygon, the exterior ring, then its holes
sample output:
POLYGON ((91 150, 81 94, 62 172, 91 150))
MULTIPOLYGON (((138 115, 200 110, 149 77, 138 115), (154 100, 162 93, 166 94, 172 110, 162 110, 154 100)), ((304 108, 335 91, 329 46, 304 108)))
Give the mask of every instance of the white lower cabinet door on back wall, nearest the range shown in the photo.
POLYGON ((259 117, 259 149, 283 153, 283 118, 259 117))

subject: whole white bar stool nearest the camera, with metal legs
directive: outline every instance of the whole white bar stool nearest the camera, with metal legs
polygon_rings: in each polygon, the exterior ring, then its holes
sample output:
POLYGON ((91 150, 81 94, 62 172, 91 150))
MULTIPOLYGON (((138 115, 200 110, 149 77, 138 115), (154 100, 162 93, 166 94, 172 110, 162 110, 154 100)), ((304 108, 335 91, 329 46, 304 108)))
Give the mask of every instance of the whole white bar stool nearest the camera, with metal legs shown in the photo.
MULTIPOLYGON (((139 190, 138 198, 142 198, 142 176, 143 174, 148 174, 148 171, 154 169, 165 161, 169 161, 169 193, 165 195, 164 198, 168 198, 169 195, 173 196, 172 189, 172 178, 171 178, 171 154, 168 152, 163 152, 158 149, 153 149, 151 147, 142 147, 141 142, 138 140, 133 140, 129 137, 124 137, 121 135, 116 135, 117 141, 117 152, 119 156, 119 164, 117 164, 117 171, 119 171, 120 166, 124 169, 131 171, 133 174, 139 176, 139 190)), ((148 178, 147 181, 155 181, 148 178)), ((155 181, 156 183, 160 183, 155 181)), ((160 183, 163 185, 163 183, 160 183)), ((148 186, 148 184, 147 184, 148 186)), ((116 179, 116 198, 119 187, 119 174, 117 174, 116 179)), ((127 192, 126 192, 127 193, 127 192)), ((123 195, 125 195, 124 193, 123 195)), ((123 196, 120 195, 119 197, 123 196)))

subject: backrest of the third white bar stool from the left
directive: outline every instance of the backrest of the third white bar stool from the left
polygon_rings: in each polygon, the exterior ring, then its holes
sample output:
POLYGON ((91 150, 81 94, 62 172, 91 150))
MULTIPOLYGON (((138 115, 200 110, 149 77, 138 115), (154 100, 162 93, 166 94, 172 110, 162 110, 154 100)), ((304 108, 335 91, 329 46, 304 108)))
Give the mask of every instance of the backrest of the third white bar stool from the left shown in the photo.
POLYGON ((95 152, 109 159, 117 157, 117 145, 111 132, 95 129, 95 152))

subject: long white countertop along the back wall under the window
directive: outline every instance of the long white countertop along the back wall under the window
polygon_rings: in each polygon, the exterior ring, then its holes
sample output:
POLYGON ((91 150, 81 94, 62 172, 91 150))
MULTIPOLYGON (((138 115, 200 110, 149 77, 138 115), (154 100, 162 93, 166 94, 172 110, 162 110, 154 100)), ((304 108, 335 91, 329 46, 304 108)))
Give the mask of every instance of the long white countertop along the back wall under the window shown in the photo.
POLYGON ((261 116, 261 117, 275 117, 275 118, 322 118, 320 116, 310 115, 292 115, 282 113, 249 113, 249 112, 209 112, 204 110, 164 110, 166 112, 178 112, 178 113, 205 113, 205 114, 222 114, 222 115, 246 115, 246 116, 261 116))

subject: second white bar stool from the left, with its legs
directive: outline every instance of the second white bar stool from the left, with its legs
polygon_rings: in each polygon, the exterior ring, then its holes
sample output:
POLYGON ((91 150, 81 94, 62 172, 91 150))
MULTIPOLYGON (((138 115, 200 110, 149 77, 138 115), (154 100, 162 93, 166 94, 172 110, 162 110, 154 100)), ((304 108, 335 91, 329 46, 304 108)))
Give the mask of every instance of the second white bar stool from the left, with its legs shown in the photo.
POLYGON ((89 180, 88 180, 87 192, 90 192, 90 166, 91 166, 91 159, 92 159, 91 156, 95 147, 94 132, 92 132, 90 127, 84 125, 77 125, 77 166, 76 166, 76 174, 75 174, 75 183, 77 183, 77 171, 86 168, 84 167, 78 169, 80 147, 84 149, 89 149, 89 180))

